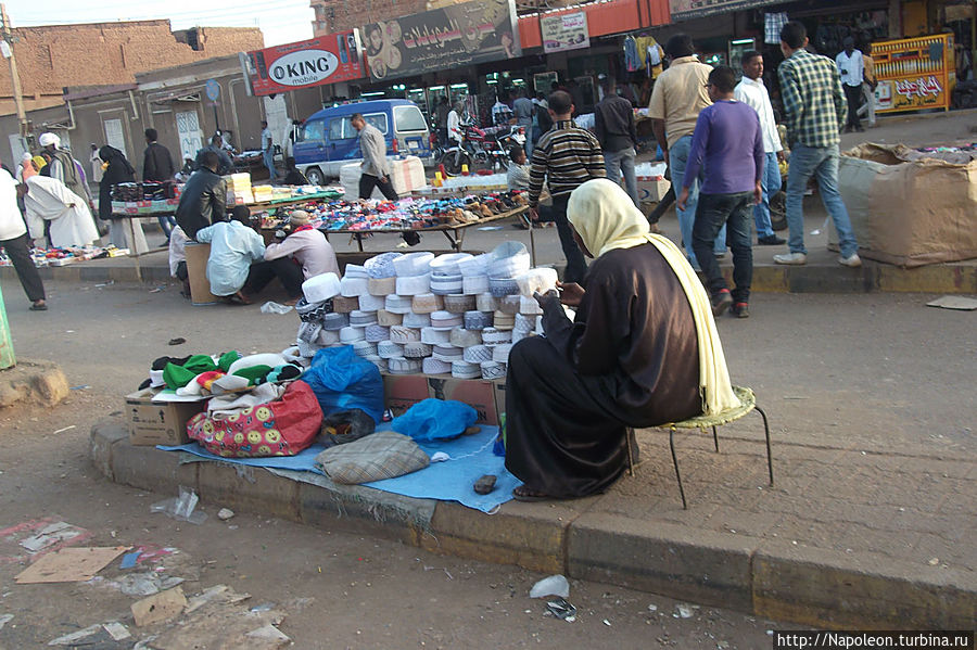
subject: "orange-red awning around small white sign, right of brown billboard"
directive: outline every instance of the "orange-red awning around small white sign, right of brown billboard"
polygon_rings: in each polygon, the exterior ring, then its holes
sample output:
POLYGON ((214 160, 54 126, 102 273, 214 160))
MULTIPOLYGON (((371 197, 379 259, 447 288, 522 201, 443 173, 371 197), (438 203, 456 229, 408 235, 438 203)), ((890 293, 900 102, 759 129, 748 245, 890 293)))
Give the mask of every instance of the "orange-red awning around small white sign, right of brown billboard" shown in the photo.
POLYGON ((668 0, 601 0, 536 14, 519 16, 519 39, 523 49, 542 48, 541 15, 583 11, 591 38, 625 34, 671 23, 668 0))

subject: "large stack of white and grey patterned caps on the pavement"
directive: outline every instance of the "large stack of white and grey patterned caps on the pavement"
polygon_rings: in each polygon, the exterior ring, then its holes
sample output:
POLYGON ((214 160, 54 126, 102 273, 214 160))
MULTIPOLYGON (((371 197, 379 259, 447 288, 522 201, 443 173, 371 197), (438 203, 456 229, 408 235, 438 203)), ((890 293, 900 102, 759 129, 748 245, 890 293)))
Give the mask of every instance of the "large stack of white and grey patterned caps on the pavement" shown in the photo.
POLYGON ((542 333, 532 295, 557 275, 531 269, 525 246, 506 242, 478 256, 382 253, 347 265, 342 280, 315 280, 296 305, 303 356, 352 345, 392 374, 502 379, 512 344, 542 333))

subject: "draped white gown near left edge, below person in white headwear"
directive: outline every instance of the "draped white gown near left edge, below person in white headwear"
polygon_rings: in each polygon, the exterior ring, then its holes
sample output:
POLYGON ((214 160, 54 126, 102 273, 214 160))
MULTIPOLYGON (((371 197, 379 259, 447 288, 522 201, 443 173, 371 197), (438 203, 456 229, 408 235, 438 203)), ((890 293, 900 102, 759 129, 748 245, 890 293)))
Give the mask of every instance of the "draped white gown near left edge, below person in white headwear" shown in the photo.
POLYGON ((30 237, 42 240, 45 221, 51 221, 51 244, 55 247, 87 246, 99 239, 88 202, 63 182, 47 176, 31 176, 26 181, 27 224, 30 237))

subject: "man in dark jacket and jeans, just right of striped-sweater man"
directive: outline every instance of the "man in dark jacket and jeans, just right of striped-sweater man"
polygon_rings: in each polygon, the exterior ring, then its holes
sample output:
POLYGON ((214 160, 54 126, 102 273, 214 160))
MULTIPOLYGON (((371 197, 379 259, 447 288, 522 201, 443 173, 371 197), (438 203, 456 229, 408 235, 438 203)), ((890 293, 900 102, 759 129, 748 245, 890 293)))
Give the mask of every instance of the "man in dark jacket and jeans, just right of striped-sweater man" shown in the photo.
POLYGON ((627 195, 634 201, 634 206, 639 208, 637 178, 634 174, 637 149, 634 109, 631 107, 631 102, 618 94, 617 88, 613 77, 605 79, 604 99, 594 107, 594 131, 604 153, 607 177, 620 183, 623 174, 627 195))

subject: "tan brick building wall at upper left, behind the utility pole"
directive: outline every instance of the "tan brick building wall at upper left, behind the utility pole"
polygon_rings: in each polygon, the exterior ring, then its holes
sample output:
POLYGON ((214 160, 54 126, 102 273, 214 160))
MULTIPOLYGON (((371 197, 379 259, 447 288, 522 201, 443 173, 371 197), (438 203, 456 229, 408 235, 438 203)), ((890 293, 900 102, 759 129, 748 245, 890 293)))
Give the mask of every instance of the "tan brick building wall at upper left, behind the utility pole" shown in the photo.
MULTIPOLYGON (((27 111, 62 103, 66 86, 131 84, 136 73, 264 47, 256 27, 170 31, 169 21, 17 27, 14 54, 27 111)), ((0 65, 0 115, 15 111, 0 65)))

